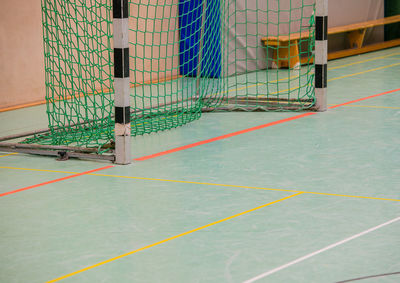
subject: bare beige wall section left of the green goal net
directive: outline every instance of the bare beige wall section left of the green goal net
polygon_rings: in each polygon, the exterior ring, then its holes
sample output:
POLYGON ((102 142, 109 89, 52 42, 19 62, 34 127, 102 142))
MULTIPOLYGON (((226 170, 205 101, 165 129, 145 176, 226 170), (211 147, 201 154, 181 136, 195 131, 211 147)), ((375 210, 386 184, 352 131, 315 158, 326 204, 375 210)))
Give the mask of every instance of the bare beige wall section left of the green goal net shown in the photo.
POLYGON ((0 109, 45 97, 40 0, 0 0, 0 109))

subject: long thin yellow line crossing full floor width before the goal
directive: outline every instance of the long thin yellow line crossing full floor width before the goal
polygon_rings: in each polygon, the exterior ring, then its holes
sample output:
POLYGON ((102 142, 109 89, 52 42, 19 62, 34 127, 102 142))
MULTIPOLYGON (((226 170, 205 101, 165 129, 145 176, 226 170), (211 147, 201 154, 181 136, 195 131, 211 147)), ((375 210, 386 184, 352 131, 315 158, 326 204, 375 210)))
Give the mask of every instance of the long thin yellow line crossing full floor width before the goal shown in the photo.
MULTIPOLYGON (((65 174, 78 174, 78 172, 67 172, 67 171, 57 171, 57 170, 43 170, 43 169, 32 169, 32 168, 18 168, 18 167, 6 167, 0 166, 0 169, 12 169, 12 170, 27 170, 27 171, 44 171, 51 173, 65 173, 65 174)), ((134 180, 146 180, 146 181, 157 181, 157 182, 171 182, 171 183, 182 183, 182 184, 192 184, 192 185, 205 185, 205 186, 216 186, 216 187, 227 187, 227 188, 241 188, 241 189, 252 189, 252 190, 265 190, 265 191, 275 191, 275 192, 289 192, 289 193, 304 193, 313 195, 324 195, 324 196, 335 196, 335 197, 346 197, 346 198, 360 198, 360 199, 372 199, 372 200, 385 200, 385 201, 399 201, 400 199, 391 198, 380 198, 380 197, 366 197, 366 196, 354 196, 345 194, 334 194, 334 193, 321 193, 321 192, 308 192, 301 190, 289 190, 289 189, 273 189, 264 187, 252 187, 243 185, 229 185, 229 184, 218 184, 218 183, 208 183, 208 182, 195 182, 195 181, 183 181, 183 180, 170 180, 170 179, 160 179, 160 178, 148 178, 148 177, 135 177, 135 176, 120 176, 112 174, 98 174, 89 173, 90 176, 98 177, 111 177, 111 178, 122 178, 122 179, 134 179, 134 180)))

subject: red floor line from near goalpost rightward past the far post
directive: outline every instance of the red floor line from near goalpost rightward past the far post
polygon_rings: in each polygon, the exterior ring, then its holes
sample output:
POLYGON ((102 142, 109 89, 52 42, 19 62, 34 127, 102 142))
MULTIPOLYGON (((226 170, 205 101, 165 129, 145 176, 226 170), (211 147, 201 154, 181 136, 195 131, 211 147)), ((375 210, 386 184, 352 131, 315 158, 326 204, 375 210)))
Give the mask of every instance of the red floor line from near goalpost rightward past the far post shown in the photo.
MULTIPOLYGON (((342 103, 342 104, 334 105, 334 106, 329 107, 329 109, 334 109, 334 108, 337 108, 337 107, 340 107, 340 106, 356 103, 356 102, 359 102, 359 101, 371 99, 371 98, 374 98, 374 97, 377 97, 377 96, 381 96, 381 95, 385 95, 385 94, 389 94, 389 93, 393 93, 393 92, 397 92, 397 91, 400 91, 400 88, 394 89, 394 90, 390 90, 390 91, 386 91, 386 92, 382 92, 382 93, 375 94, 375 95, 371 95, 371 96, 367 96, 367 97, 364 97, 364 98, 352 100, 352 101, 345 102, 345 103, 342 103)), ((218 137, 215 137, 215 138, 211 138, 211 139, 195 142, 195 143, 192 143, 192 144, 180 146, 180 147, 169 149, 169 150, 166 150, 166 151, 162 151, 162 152, 158 152, 158 153, 142 156, 142 157, 139 157, 139 158, 135 158, 134 161, 144 161, 144 160, 152 159, 152 158, 155 158, 155 157, 159 157, 159 156, 167 155, 167 154, 174 153, 174 152, 177 152, 177 151, 185 150, 185 149, 188 149, 188 148, 200 146, 200 145, 203 145, 203 144, 207 144, 207 143, 211 143, 211 142, 227 139, 227 138, 230 138, 230 137, 234 137, 234 136, 238 136, 238 135, 245 134, 245 133, 248 133, 248 132, 256 131, 256 130, 259 130, 259 129, 264 129, 264 128, 271 127, 271 126, 274 126, 274 125, 290 122, 290 121, 293 121, 293 120, 297 120, 297 119, 308 117, 308 116, 315 115, 315 114, 317 114, 317 112, 303 113, 303 114, 296 115, 296 116, 293 116, 293 117, 290 117, 290 118, 286 118, 286 119, 278 120, 278 121, 275 121, 275 122, 259 125, 259 126, 256 126, 256 127, 244 129, 244 130, 241 130, 241 131, 237 131, 237 132, 233 132, 233 133, 230 133, 230 134, 218 136, 218 137)))

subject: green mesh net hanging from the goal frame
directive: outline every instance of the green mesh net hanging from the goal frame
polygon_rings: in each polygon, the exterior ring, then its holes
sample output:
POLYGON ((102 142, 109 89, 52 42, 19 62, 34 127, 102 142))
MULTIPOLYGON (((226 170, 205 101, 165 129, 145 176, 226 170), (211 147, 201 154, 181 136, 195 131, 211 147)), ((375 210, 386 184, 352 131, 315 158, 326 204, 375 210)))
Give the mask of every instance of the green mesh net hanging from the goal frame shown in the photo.
MULTIPOLYGON (((132 135, 215 110, 314 105, 315 0, 131 0, 132 135)), ((42 0, 50 132, 25 143, 113 140, 111 0, 42 0)))

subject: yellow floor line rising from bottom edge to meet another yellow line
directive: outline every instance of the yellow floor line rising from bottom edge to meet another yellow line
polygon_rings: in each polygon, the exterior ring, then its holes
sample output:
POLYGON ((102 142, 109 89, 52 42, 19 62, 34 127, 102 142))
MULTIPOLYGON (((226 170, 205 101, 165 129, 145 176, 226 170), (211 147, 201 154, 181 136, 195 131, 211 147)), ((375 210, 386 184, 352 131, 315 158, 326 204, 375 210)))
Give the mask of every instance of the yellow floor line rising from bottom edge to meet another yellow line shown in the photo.
POLYGON ((222 223, 222 222, 231 220, 231 219, 233 219, 233 218, 242 216, 242 215, 244 215, 244 214, 247 214, 247 213, 253 212, 253 211, 255 211, 255 210, 258 210, 258 209, 261 209, 261 208, 264 208, 264 207, 273 205, 273 204, 275 204, 275 203, 278 203, 278 202, 281 202, 281 201, 290 199, 290 198, 292 198, 292 197, 295 197, 295 196, 298 196, 298 195, 301 195, 301 194, 302 194, 302 193, 293 194, 293 195, 290 195, 290 196, 287 196, 287 197, 284 197, 284 198, 281 198, 281 199, 278 199, 278 200, 275 200, 275 201, 272 201, 272 202, 269 202, 269 203, 266 203, 266 204, 257 206, 257 207, 255 207, 255 208, 252 208, 252 209, 249 209, 249 210, 246 210, 246 211, 237 213, 237 214, 235 214, 235 215, 231 215, 231 216, 229 216, 229 217, 226 217, 226 218, 223 218, 223 219, 220 219, 220 220, 211 222, 211 223, 209 223, 209 224, 206 224, 206 225, 200 226, 200 227, 198 227, 198 228, 195 228, 195 229, 192 229, 192 230, 183 232, 183 233, 181 233, 181 234, 178 234, 178 235, 175 235, 175 236, 166 238, 166 239, 164 239, 164 240, 161 240, 161 241, 158 241, 158 242, 156 242, 156 243, 153 243, 153 244, 144 246, 144 247, 142 247, 142 248, 139 248, 139 249, 136 249, 136 250, 133 250, 133 251, 124 253, 124 254, 122 254, 122 255, 119 255, 119 256, 116 256, 116 257, 113 257, 113 258, 110 258, 110 259, 101 261, 101 262, 96 263, 96 264, 94 264, 94 265, 91 265, 91 266, 88 266, 88 267, 79 269, 79 270, 77 270, 77 271, 75 271, 75 272, 72 272, 72 273, 66 274, 66 275, 64 275, 64 276, 55 278, 55 279, 53 279, 53 280, 47 281, 47 283, 58 282, 58 281, 60 281, 60 280, 63 280, 63 279, 66 279, 66 278, 68 278, 68 277, 71 277, 71 276, 74 276, 74 275, 76 275, 76 274, 79 274, 79 273, 82 273, 82 272, 84 272, 84 271, 87 271, 87 270, 89 270, 89 269, 93 269, 93 268, 95 268, 95 267, 98 267, 98 266, 104 265, 104 264, 106 264, 106 263, 109 263, 109 262, 118 260, 118 259, 120 259, 120 258, 129 256, 129 255, 132 255, 132 254, 134 254, 134 253, 137 253, 137 252, 140 252, 140 251, 143 251, 143 250, 152 248, 152 247, 154 247, 154 246, 157 246, 157 245, 160 245, 160 244, 169 242, 169 241, 171 241, 171 240, 174 240, 174 239, 177 239, 177 238, 186 236, 186 235, 188 235, 188 234, 192 234, 192 233, 194 233, 194 232, 203 230, 203 229, 208 228, 208 227, 210 227, 210 226, 213 226, 213 225, 216 225, 216 224, 219 224, 219 223, 222 223))

